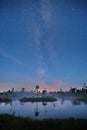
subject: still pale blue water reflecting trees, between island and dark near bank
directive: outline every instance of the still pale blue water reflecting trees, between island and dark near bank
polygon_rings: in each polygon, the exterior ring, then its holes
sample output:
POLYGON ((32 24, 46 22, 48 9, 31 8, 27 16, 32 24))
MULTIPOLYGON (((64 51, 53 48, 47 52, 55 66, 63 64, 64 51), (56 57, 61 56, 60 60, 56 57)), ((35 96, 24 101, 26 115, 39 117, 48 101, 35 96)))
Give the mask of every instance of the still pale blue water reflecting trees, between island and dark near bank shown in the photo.
POLYGON ((31 117, 33 119, 46 118, 86 118, 87 104, 59 99, 56 102, 26 102, 16 100, 11 103, 0 103, 0 113, 16 116, 31 117))

